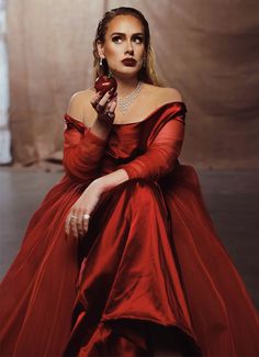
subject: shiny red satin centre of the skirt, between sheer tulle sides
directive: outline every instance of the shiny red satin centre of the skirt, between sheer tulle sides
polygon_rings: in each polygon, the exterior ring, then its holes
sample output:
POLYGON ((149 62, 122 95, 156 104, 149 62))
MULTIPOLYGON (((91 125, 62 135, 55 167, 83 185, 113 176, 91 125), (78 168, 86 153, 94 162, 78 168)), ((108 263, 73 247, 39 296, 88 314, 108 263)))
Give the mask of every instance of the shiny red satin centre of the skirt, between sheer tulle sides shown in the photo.
POLYGON ((103 198, 80 244, 79 290, 65 355, 124 356, 126 344, 134 356, 150 356, 148 331, 157 324, 183 331, 198 349, 170 231, 155 182, 133 179, 103 198))

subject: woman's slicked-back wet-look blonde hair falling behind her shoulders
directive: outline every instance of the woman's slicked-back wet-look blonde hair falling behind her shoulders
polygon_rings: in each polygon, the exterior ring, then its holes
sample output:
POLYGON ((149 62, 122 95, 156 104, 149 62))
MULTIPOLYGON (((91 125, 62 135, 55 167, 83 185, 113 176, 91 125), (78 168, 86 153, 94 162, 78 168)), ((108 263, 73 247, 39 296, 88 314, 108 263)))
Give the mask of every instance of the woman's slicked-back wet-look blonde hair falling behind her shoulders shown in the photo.
MULTIPOLYGON (((142 67, 142 69, 138 71, 138 79, 150 85, 159 86, 161 87, 161 83, 158 79, 156 69, 155 69, 155 52, 153 49, 151 43, 150 43, 150 33, 149 33, 149 26, 148 22, 143 15, 143 13, 134 8, 126 8, 126 7, 120 7, 116 9, 112 9, 110 11, 106 11, 103 19, 99 22, 95 33, 95 38, 93 41, 93 80, 101 75, 102 70, 100 68, 100 58, 98 54, 97 48, 97 42, 100 41, 101 43, 104 43, 105 41, 105 33, 108 30, 109 23, 116 18, 117 15, 133 15, 137 18, 144 27, 144 44, 145 44, 145 66, 142 67)), ((103 60, 103 69, 104 72, 108 74, 108 64, 106 60, 103 60)))

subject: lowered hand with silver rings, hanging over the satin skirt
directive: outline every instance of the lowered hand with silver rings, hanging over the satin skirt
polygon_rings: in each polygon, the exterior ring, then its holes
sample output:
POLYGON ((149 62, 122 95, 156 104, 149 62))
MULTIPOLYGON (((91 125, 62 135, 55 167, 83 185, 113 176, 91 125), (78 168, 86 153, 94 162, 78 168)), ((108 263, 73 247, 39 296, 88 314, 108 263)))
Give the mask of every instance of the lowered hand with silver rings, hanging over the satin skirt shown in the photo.
POLYGON ((101 188, 95 183, 95 181, 88 186, 80 198, 71 207, 66 219, 66 236, 71 232, 72 237, 78 239, 87 234, 90 220, 88 215, 91 215, 93 209, 99 202, 101 193, 101 188))

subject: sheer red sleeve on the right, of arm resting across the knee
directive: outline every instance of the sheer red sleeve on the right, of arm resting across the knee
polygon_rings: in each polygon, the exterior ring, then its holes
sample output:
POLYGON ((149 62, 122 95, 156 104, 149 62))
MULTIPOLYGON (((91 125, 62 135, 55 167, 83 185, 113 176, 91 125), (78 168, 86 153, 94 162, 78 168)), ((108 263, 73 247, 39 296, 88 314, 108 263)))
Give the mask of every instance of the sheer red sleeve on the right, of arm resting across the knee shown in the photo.
POLYGON ((173 108, 172 113, 161 119, 156 125, 155 137, 146 152, 120 166, 127 172, 130 179, 158 180, 173 169, 182 148, 185 111, 185 107, 182 105, 173 108))

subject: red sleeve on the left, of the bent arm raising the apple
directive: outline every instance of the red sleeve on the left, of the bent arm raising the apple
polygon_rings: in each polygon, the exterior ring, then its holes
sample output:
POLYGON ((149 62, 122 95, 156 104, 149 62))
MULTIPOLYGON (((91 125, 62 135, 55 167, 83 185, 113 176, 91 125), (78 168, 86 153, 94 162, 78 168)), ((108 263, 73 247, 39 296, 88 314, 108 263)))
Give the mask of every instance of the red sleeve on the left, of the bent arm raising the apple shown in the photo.
POLYGON ((98 176, 106 142, 81 122, 65 114, 63 165, 74 179, 86 181, 98 176))

